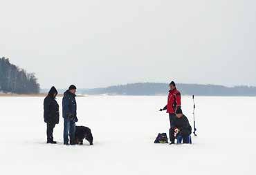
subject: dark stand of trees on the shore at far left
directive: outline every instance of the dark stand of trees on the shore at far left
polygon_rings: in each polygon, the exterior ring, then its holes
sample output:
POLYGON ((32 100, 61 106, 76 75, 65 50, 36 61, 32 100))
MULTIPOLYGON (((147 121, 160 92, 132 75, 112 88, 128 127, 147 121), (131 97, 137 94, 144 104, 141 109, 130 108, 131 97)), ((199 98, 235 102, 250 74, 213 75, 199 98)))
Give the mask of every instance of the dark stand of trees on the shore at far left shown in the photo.
POLYGON ((37 94, 40 85, 33 73, 19 69, 9 59, 0 58, 0 92, 17 94, 37 94))

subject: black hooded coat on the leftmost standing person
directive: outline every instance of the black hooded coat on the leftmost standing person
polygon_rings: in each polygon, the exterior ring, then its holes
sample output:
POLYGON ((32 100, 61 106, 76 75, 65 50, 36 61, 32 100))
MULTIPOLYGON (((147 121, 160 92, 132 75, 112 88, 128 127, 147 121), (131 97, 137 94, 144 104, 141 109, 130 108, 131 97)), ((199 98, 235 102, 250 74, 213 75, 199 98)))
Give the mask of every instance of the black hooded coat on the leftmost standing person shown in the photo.
POLYGON ((45 123, 54 123, 58 124, 60 121, 60 111, 59 105, 55 100, 55 96, 57 96, 57 90, 53 86, 51 90, 48 92, 48 95, 44 99, 44 122, 45 123))

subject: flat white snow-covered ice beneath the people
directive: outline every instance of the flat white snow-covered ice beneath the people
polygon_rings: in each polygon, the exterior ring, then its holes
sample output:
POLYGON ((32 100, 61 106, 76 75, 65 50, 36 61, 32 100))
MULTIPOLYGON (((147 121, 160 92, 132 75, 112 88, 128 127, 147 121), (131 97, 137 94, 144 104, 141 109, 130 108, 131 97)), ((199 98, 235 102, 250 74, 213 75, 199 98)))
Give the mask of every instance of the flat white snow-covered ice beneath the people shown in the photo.
MULTIPOLYGON (((1 174, 256 174, 256 99, 197 97, 193 145, 157 145, 168 132, 164 96, 77 98, 80 121, 91 127, 95 145, 47 145, 41 97, 0 98, 1 174)), ((61 104, 61 98, 57 101, 61 104)), ((192 98, 183 97, 192 124, 192 98)))

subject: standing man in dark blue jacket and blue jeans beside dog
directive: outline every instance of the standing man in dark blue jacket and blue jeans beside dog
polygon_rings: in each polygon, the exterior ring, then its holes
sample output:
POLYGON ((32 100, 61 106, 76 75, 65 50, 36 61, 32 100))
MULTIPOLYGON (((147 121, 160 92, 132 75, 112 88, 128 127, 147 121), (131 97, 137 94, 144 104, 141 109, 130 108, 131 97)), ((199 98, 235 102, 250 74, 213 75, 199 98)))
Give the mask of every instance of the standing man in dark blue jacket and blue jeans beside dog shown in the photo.
POLYGON ((70 144, 75 145, 75 122, 77 122, 77 105, 75 101, 75 85, 71 85, 62 99, 62 114, 64 118, 64 145, 68 144, 68 134, 70 137, 70 144))

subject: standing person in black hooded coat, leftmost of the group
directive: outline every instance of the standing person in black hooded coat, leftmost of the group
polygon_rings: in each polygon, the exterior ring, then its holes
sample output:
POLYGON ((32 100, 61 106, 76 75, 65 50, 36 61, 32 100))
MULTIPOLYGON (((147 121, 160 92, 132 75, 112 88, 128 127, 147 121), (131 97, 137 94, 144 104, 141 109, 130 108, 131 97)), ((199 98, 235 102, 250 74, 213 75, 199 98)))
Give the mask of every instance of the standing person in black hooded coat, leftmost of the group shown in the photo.
POLYGON ((60 120, 59 105, 55 100, 57 90, 53 86, 44 99, 44 122, 47 123, 47 143, 56 144, 53 141, 53 129, 60 120))

